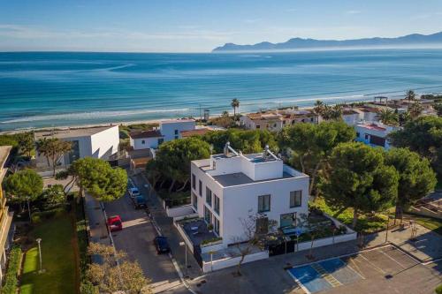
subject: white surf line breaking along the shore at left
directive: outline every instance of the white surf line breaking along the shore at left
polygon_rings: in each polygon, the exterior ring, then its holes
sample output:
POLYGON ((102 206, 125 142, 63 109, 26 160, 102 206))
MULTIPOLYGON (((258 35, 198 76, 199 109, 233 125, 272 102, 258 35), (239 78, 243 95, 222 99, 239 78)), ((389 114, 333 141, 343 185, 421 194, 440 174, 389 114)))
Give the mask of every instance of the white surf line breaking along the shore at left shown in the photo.
POLYGON ((127 110, 127 111, 90 111, 90 112, 79 112, 79 113, 65 113, 65 114, 54 114, 54 115, 44 115, 44 116, 34 116, 34 117, 19 117, 11 120, 6 120, 0 122, 0 124, 13 124, 13 123, 26 123, 26 122, 37 122, 46 120, 77 120, 77 119, 89 119, 97 117, 126 117, 133 115, 151 114, 151 113, 166 113, 166 112, 186 112, 188 109, 140 109, 140 110, 127 110))

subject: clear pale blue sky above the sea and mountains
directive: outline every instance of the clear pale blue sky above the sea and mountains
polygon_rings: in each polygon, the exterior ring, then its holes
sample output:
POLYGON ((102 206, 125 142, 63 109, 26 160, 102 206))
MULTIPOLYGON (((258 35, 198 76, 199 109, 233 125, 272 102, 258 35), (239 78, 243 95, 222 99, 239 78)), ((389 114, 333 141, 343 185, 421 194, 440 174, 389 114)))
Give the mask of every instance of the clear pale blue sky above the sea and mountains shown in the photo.
POLYGON ((0 0, 0 51, 210 52, 442 31, 442 0, 0 0))

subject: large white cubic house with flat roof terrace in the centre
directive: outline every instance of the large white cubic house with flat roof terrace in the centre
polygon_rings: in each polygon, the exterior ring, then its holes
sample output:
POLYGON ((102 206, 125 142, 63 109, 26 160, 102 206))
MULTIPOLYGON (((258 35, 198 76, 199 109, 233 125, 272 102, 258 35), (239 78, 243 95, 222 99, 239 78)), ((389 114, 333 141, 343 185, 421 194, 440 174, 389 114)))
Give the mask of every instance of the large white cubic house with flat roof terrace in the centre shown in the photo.
POLYGON ((242 237, 240 219, 263 213, 279 227, 293 226, 308 213, 309 176, 293 170, 268 148, 242 155, 226 144, 225 153, 191 162, 192 205, 214 227, 223 245, 242 237))

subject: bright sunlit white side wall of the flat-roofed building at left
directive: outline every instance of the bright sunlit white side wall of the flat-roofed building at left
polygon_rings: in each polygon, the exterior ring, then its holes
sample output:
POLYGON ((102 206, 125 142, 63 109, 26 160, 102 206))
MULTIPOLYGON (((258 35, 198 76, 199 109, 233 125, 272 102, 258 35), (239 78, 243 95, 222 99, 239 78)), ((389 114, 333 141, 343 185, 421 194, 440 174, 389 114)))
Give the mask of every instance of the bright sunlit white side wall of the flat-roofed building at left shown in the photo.
POLYGON ((108 159, 110 155, 114 155, 118 152, 118 125, 104 130, 103 132, 95 133, 90 137, 90 141, 91 156, 95 158, 108 159))

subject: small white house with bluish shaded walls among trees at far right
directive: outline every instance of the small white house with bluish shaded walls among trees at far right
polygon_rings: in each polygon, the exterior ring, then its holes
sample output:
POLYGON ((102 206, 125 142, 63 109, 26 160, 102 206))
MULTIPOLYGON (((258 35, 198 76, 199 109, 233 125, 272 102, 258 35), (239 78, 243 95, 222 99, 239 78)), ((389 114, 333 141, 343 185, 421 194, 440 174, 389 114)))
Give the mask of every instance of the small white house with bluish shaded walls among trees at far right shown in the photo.
POLYGON ((390 148, 387 136, 390 132, 398 130, 398 126, 386 125, 382 123, 359 123, 354 125, 356 140, 372 147, 390 148))

